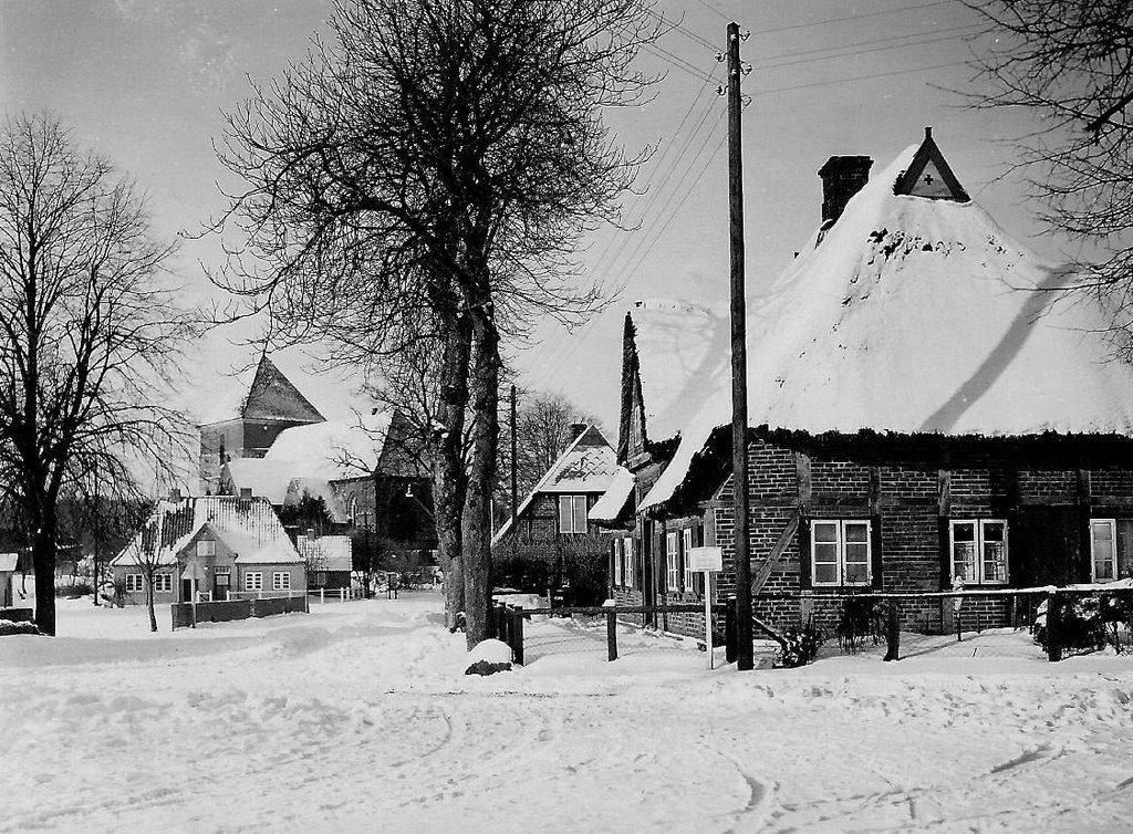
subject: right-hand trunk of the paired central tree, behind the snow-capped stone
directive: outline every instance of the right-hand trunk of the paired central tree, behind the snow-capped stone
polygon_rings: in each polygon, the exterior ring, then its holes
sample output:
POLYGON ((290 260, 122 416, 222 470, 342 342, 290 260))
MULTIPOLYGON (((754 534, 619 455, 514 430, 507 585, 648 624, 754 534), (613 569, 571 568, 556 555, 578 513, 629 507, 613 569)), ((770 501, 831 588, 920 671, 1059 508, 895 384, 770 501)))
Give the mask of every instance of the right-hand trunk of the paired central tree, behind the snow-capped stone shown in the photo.
POLYGON ((487 304, 474 306, 471 454, 465 496, 465 616, 468 647, 491 635, 492 487, 500 442, 500 337, 487 304))

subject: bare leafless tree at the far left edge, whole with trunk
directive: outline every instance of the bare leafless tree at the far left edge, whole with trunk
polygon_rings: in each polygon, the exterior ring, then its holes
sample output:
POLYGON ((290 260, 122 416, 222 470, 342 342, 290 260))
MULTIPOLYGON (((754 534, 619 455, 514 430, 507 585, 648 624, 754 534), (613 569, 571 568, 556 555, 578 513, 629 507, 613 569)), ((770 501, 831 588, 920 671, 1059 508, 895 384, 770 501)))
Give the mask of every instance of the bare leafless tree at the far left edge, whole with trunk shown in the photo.
POLYGON ((45 116, 0 128, 0 480, 32 534, 39 628, 56 631, 58 502, 137 496, 186 423, 163 383, 189 320, 143 201, 45 116))

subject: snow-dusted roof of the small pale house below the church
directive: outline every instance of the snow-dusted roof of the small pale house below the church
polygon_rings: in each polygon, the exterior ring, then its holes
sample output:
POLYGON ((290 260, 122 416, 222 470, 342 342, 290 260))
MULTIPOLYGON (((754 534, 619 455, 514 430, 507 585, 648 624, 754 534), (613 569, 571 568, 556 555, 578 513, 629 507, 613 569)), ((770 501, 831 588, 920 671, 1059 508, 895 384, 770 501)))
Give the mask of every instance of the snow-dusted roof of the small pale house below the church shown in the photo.
POLYGON ((239 562, 301 561, 266 499, 244 502, 231 495, 204 495, 159 501, 142 529, 110 563, 136 565, 152 558, 159 564, 174 564, 206 529, 233 551, 239 562))

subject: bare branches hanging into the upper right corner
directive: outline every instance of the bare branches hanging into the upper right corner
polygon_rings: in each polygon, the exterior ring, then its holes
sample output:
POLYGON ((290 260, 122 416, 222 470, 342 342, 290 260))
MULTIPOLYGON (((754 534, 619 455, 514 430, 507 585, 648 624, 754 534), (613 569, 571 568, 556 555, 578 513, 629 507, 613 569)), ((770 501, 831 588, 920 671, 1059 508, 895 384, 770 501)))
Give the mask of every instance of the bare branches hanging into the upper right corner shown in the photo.
POLYGON ((1051 229, 1081 244, 1082 287, 1116 324, 1133 318, 1133 9, 1124 0, 968 2, 994 37, 978 57, 978 107, 1033 111, 1020 167, 1051 229))

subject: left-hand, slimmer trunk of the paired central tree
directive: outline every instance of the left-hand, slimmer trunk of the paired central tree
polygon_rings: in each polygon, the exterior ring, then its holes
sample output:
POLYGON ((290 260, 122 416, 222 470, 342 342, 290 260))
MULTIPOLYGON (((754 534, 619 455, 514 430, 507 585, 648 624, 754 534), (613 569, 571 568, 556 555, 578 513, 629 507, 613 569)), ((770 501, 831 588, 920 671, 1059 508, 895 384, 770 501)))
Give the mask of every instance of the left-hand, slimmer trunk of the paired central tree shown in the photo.
POLYGON ((443 381, 433 434, 433 510, 436 520, 437 556, 444 573, 444 624, 453 631, 465 611, 465 577, 460 520, 465 504, 463 467, 465 411, 468 407, 467 368, 471 352, 471 324, 467 314, 450 322, 440 374, 443 381))

